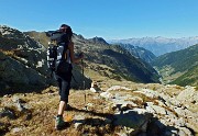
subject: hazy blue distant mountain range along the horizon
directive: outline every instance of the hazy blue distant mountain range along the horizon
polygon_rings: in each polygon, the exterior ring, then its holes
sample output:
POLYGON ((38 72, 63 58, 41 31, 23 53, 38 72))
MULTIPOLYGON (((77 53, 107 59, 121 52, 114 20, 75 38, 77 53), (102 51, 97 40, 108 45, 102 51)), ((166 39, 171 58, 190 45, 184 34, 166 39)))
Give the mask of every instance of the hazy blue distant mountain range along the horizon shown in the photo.
POLYGON ((131 44, 133 46, 143 47, 151 50, 155 56, 161 56, 166 53, 180 50, 191 45, 198 44, 198 36, 182 37, 182 38, 166 38, 166 37, 142 37, 128 39, 111 39, 110 44, 131 44))

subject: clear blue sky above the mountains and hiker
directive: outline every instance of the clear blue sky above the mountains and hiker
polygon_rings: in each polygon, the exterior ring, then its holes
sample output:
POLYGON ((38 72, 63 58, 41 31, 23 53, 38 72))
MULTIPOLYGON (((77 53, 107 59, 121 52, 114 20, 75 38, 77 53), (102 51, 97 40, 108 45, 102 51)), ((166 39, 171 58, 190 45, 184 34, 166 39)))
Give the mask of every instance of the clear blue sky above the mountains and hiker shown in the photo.
POLYGON ((198 0, 0 0, 0 25, 20 31, 69 24, 86 38, 198 36, 198 0))

